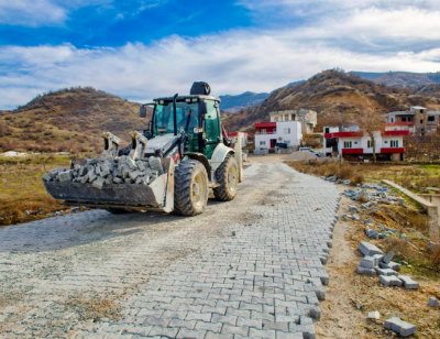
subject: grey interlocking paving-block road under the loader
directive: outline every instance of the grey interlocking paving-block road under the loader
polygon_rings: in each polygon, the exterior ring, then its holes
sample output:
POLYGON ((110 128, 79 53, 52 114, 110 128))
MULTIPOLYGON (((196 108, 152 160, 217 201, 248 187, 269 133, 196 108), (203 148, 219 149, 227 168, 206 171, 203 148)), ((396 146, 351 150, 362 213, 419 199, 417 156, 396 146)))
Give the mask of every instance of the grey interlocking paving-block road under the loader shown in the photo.
POLYGON ((255 162, 204 215, 0 229, 0 338, 315 338, 337 188, 255 162))

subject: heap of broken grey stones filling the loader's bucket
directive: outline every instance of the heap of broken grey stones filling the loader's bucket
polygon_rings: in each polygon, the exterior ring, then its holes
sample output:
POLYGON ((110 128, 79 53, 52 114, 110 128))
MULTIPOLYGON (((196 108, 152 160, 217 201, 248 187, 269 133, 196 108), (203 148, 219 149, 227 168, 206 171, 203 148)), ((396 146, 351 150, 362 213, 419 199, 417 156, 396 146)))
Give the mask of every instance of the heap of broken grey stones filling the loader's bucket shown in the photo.
POLYGON ((150 185, 164 174, 161 158, 134 161, 131 156, 122 155, 118 160, 108 157, 86 158, 85 165, 76 164, 74 168, 55 168, 43 175, 44 182, 91 183, 97 188, 110 184, 150 185))

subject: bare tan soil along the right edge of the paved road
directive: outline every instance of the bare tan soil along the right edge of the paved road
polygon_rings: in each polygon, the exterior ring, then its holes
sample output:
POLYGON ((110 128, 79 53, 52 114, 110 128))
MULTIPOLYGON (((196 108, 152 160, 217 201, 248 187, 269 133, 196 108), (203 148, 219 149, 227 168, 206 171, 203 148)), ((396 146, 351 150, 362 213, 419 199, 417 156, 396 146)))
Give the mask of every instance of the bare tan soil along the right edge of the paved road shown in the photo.
MULTIPOLYGON (((341 192, 345 187, 341 187, 341 192)), ((386 287, 377 276, 355 273, 359 258, 359 241, 365 240, 359 227, 341 217, 353 203, 342 196, 340 220, 334 227, 333 248, 327 272, 330 277, 326 286, 326 300, 320 303, 321 320, 315 324, 317 338, 389 338, 396 333, 384 330, 383 324, 391 317, 417 326, 410 338, 440 338, 439 309, 428 306, 429 297, 440 298, 440 284, 433 277, 414 276, 418 289, 386 287), (380 320, 367 319, 369 311, 377 310, 380 320)), ((404 270, 411 275, 410 270, 404 270)))

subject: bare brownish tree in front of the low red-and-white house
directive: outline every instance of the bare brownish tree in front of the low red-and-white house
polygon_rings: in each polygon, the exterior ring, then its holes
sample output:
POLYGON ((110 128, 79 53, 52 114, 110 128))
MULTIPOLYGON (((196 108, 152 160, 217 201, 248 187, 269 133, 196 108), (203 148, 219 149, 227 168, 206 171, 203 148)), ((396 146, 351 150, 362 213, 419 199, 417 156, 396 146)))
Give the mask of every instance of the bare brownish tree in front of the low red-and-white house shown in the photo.
POLYGON ((374 132, 382 132, 384 129, 385 117, 376 108, 365 108, 360 113, 351 117, 353 123, 358 124, 360 130, 369 134, 373 147, 373 162, 376 163, 376 140, 374 132))

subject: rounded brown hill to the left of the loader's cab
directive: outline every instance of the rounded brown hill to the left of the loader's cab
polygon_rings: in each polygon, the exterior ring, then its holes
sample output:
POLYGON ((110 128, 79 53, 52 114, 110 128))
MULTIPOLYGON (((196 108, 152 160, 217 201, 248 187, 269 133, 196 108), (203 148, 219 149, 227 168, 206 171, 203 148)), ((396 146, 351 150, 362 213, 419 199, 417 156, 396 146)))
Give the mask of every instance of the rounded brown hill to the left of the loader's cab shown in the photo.
POLYGON ((140 103, 91 87, 37 96, 25 106, 0 112, 0 147, 4 151, 100 152, 101 133, 130 142, 128 132, 146 127, 140 103))

